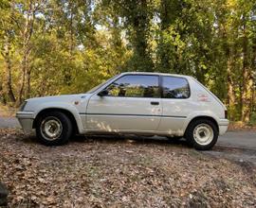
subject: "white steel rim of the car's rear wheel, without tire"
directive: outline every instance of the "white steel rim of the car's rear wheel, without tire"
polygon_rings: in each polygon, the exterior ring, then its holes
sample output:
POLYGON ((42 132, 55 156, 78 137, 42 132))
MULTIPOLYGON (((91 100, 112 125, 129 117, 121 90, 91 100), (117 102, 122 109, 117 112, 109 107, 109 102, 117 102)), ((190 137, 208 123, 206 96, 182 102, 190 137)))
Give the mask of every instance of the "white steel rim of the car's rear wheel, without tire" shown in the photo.
POLYGON ((214 132, 208 124, 197 125, 192 134, 195 142, 201 146, 209 145, 214 137, 214 132))

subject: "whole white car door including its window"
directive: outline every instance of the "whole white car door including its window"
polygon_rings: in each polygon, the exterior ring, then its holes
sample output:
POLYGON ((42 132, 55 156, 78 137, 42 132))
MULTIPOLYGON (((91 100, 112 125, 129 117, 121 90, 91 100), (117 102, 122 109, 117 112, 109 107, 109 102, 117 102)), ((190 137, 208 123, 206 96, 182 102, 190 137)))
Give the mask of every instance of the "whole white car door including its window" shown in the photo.
POLYGON ((158 76, 124 75, 105 90, 107 95, 92 95, 89 100, 88 130, 146 132, 157 129, 162 113, 158 76))

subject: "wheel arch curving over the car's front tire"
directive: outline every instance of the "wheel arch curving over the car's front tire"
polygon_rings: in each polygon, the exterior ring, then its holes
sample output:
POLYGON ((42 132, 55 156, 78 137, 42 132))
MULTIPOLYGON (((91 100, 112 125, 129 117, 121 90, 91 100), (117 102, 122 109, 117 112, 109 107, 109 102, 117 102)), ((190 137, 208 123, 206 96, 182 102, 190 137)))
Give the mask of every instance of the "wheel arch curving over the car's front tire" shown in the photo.
POLYGON ((43 109, 41 110, 39 113, 37 113, 34 121, 33 121, 33 126, 32 128, 35 129, 36 128, 36 124, 39 120, 39 118, 44 114, 44 113, 49 113, 49 112, 61 112, 61 113, 64 113, 71 121, 71 124, 74 128, 74 132, 75 133, 79 133, 80 130, 79 130, 79 126, 78 126, 78 123, 77 123, 77 120, 74 116, 73 113, 71 113, 70 111, 66 110, 66 109, 61 109, 61 108, 47 108, 47 109, 43 109))

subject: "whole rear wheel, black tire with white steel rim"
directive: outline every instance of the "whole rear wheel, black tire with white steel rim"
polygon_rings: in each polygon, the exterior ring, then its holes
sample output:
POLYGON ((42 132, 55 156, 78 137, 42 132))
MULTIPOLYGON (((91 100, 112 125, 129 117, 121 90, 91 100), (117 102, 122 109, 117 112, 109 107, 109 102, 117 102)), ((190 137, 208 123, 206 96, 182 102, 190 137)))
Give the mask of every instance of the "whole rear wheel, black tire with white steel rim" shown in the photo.
POLYGON ((186 130, 187 142, 198 150, 209 150, 218 140, 218 128, 208 119, 192 121, 186 130))

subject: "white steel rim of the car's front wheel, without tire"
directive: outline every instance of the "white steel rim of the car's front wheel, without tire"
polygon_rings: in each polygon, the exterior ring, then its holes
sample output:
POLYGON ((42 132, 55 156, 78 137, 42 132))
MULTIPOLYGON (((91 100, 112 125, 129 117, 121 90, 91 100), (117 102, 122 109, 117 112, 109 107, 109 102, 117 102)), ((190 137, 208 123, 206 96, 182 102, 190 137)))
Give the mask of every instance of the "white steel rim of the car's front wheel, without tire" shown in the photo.
POLYGON ((49 116, 42 121, 40 130, 46 140, 54 141, 62 134, 63 124, 57 117, 49 116))

